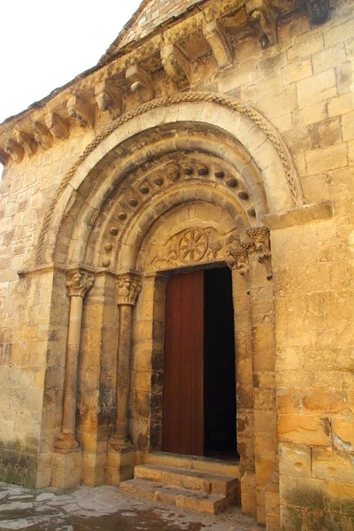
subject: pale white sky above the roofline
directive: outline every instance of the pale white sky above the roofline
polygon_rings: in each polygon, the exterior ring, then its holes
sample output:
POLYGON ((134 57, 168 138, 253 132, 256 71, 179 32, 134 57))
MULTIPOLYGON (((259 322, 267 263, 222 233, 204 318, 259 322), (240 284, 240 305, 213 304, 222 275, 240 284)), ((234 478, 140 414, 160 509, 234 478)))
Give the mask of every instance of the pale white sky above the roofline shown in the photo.
POLYGON ((0 123, 96 65, 141 0, 3 0, 0 123))

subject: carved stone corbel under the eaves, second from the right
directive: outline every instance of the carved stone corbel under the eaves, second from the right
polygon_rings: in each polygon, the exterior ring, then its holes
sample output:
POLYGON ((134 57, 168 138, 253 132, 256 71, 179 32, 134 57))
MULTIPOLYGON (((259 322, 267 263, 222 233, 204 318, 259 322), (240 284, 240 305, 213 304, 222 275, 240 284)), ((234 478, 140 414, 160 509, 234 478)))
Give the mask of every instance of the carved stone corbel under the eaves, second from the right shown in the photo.
POLYGON ((247 0, 246 11, 256 27, 262 48, 277 42, 277 30, 273 12, 267 0, 247 0))

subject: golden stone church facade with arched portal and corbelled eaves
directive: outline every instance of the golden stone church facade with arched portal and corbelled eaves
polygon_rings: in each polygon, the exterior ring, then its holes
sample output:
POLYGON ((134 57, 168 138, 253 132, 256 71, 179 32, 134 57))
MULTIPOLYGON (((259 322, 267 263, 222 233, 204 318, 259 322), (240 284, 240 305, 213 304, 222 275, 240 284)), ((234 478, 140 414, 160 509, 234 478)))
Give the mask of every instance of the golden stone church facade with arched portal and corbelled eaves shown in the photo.
POLYGON ((145 0, 0 126, 1 480, 352 529, 353 9, 145 0))

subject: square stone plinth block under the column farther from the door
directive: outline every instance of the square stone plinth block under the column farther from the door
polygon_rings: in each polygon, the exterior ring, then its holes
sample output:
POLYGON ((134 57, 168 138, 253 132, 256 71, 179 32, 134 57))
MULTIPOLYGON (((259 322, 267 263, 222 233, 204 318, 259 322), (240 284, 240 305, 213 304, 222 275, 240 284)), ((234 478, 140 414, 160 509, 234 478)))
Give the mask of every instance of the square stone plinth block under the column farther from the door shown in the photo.
POLYGON ((78 448, 63 453, 54 451, 52 457, 51 486, 68 489, 81 485, 82 450, 78 448))

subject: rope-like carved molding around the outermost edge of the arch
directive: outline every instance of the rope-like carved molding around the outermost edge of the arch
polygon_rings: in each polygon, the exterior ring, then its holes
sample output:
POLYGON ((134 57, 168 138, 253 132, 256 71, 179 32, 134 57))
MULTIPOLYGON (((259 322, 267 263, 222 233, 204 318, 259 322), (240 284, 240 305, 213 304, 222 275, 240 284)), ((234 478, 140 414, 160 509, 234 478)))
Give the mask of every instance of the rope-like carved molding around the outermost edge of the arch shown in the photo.
POLYGON ((160 109, 162 107, 165 107, 171 104, 184 104, 184 103, 196 103, 196 102, 219 104, 223 107, 226 107, 227 109, 230 109, 231 111, 240 112, 240 114, 252 120, 266 134, 268 139, 273 143, 274 149, 276 150, 279 158, 281 158, 281 164, 287 174, 289 191, 292 196, 293 203, 295 205, 298 204, 300 198, 297 193, 296 171, 295 171, 294 166, 290 162, 290 156, 289 156, 288 150, 285 147, 284 143, 281 141, 280 135, 278 135, 278 133, 273 127, 269 126, 266 123, 264 117, 259 112, 252 109, 249 105, 243 104, 239 100, 231 99, 227 96, 222 96, 220 94, 215 94, 215 93, 210 93, 210 92, 184 92, 181 94, 177 94, 175 96, 161 97, 161 98, 152 100, 150 102, 147 102, 145 104, 142 104, 139 107, 136 107, 135 109, 133 109, 132 111, 129 111, 126 114, 120 116, 118 119, 114 120, 110 124, 110 126, 105 127, 104 130, 99 135, 96 135, 96 138, 94 138, 94 140, 92 142, 89 142, 89 144, 86 146, 81 156, 76 160, 76 162, 72 165, 70 170, 65 174, 65 177, 63 181, 61 181, 61 183, 59 184, 57 193, 53 197, 50 207, 44 216, 41 232, 38 237, 37 249, 35 253, 35 265, 38 266, 41 263, 42 250, 43 250, 44 242, 45 242, 45 235, 47 234, 50 228, 50 220, 52 218, 52 214, 55 210, 55 207, 58 204, 58 200, 64 193, 69 182, 73 179, 74 173, 79 169, 79 167, 83 164, 86 158, 89 157, 92 151, 94 151, 96 147, 101 142, 103 142, 105 138, 111 135, 113 131, 115 131, 118 127, 126 124, 131 119, 135 119, 136 117, 142 115, 144 112, 153 111, 155 109, 160 109))

